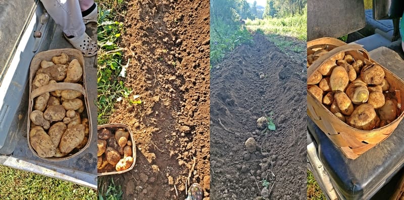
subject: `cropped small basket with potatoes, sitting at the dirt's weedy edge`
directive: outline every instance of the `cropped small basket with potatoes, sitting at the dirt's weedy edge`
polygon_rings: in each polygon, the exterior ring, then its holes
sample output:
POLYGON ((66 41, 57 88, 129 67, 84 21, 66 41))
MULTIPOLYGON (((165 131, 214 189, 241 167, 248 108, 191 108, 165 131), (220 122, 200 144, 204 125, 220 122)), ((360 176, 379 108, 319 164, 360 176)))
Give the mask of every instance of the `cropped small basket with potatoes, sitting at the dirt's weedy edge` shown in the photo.
POLYGON ((124 124, 97 126, 98 176, 125 173, 135 166, 136 144, 124 124))

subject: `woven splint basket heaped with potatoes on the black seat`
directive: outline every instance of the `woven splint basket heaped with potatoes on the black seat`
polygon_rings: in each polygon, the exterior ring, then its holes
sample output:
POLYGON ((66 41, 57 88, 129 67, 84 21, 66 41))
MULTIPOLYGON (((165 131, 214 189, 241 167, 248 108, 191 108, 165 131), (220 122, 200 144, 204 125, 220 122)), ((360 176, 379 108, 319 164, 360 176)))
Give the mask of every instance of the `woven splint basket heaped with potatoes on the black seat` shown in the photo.
POLYGON ((404 113, 404 82, 360 45, 308 42, 309 117, 349 159, 386 139, 404 113))

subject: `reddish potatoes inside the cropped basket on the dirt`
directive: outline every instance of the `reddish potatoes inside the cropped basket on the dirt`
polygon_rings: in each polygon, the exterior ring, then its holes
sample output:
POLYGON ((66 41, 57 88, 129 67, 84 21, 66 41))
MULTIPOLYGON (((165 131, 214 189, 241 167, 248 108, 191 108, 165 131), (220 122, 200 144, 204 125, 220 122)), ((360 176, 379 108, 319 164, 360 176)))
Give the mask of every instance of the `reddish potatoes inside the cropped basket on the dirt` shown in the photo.
POLYGON ((123 171, 133 164, 132 141, 123 128, 98 129, 98 173, 123 171))

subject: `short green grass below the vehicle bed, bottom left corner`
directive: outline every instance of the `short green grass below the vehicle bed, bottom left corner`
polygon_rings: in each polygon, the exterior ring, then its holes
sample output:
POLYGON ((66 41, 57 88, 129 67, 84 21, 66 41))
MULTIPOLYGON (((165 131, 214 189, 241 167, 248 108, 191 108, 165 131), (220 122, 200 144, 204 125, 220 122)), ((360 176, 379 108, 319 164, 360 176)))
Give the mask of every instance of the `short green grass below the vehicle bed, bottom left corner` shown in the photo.
POLYGON ((97 199, 95 190, 0 165, 0 199, 97 199))

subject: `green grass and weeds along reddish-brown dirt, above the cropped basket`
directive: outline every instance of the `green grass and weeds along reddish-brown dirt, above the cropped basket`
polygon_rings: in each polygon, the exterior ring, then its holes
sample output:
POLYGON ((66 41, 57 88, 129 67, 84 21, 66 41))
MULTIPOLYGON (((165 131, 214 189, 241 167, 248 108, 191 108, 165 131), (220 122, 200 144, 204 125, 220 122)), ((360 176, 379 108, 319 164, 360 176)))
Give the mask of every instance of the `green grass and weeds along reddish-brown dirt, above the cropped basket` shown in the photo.
MULTIPOLYGON (((117 21, 118 13, 125 15, 124 1, 103 1, 98 3, 98 71, 97 71, 97 123, 109 122, 114 105, 119 101, 140 104, 133 99, 132 89, 125 86, 119 77, 122 65, 120 41, 124 33, 122 22, 117 21)), ((129 62, 129 61, 128 61, 129 62)))

